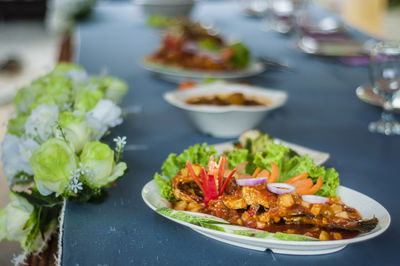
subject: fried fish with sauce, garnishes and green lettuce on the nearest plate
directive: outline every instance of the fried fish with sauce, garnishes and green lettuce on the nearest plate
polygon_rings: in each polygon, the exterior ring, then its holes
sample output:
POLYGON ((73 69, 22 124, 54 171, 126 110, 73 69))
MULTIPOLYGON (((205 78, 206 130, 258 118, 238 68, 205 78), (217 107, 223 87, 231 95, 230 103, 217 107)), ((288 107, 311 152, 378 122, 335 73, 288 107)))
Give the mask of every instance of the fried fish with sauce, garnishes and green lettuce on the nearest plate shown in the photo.
POLYGON ((245 132, 218 160, 215 148, 206 144, 170 154, 162 175, 154 178, 175 210, 268 232, 338 240, 378 223, 336 197, 339 177, 333 168, 316 166, 258 131, 245 132))

